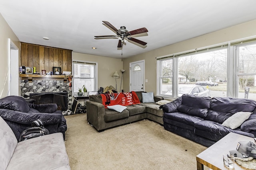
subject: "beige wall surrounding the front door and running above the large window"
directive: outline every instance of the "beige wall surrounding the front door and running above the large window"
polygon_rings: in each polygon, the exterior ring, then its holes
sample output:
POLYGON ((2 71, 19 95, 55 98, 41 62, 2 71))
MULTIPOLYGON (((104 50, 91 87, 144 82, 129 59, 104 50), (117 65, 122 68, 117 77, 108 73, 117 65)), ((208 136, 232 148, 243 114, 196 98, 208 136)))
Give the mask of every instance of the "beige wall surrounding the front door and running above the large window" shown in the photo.
MULTIPOLYGON (((180 53, 193 49, 199 49, 215 44, 220 44, 228 41, 234 41, 246 37, 256 36, 256 20, 246 22, 240 25, 222 29, 213 33, 202 35, 193 39, 182 41, 173 45, 162 47, 147 53, 142 53, 133 57, 124 59, 123 68, 129 70, 129 64, 134 61, 145 60, 145 89, 147 92, 154 92, 156 94, 156 57, 180 53)), ((129 72, 124 73, 124 91, 129 91, 129 72)))

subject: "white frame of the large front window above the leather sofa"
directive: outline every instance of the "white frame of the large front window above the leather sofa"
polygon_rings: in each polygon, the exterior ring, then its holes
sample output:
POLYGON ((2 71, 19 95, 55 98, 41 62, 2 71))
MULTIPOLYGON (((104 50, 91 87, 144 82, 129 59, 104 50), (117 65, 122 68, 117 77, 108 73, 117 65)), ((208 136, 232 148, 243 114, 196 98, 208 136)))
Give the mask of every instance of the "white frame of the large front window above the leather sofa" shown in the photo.
MULTIPOLYGON (((244 39, 240 39, 240 40, 234 40, 234 41, 230 41, 230 42, 226 42, 226 43, 222 43, 222 44, 218 44, 218 45, 212 45, 209 47, 202 47, 199 50, 198 49, 194 49, 194 50, 190 50, 190 51, 185 51, 185 52, 181 52, 181 53, 176 53, 176 54, 172 54, 172 55, 166 55, 166 56, 161 56, 161 57, 156 57, 156 67, 157 67, 157 81, 156 81, 156 95, 157 96, 162 96, 164 98, 169 98, 169 99, 176 99, 178 97, 178 57, 182 57, 182 56, 187 56, 187 55, 192 55, 193 53, 204 53, 207 52, 211 49, 216 49, 218 50, 218 48, 220 47, 225 47, 227 48, 227 96, 226 97, 231 97, 231 98, 238 98, 238 88, 239 88, 239 82, 238 82, 238 77, 245 75, 245 74, 241 74, 239 73, 239 68, 238 68, 238 57, 239 57, 239 51, 238 48, 241 46, 245 46, 245 45, 250 45, 250 44, 255 44, 256 43, 256 37, 247 37, 244 39), (160 74, 161 74, 161 61, 167 58, 173 57, 173 80, 172 80, 172 96, 170 95, 163 95, 160 94, 160 88, 161 88, 161 78, 160 78, 160 74), (176 76, 176 77, 174 77, 176 76)), ((256 73, 247 73, 246 75, 256 75, 256 73)))

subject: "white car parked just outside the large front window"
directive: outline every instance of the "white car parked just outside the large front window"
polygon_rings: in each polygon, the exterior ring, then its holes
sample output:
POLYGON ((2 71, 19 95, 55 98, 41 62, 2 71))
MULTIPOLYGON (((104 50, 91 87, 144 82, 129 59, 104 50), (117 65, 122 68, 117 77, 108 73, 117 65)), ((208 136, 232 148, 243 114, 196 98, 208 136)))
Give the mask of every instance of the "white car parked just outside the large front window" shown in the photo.
MULTIPOLYGON (((171 95, 172 91, 168 91, 165 94, 171 95)), ((178 86, 178 96, 182 96, 183 94, 210 97, 210 90, 206 89, 203 86, 198 86, 198 85, 192 85, 192 86, 191 85, 179 85, 178 86)))

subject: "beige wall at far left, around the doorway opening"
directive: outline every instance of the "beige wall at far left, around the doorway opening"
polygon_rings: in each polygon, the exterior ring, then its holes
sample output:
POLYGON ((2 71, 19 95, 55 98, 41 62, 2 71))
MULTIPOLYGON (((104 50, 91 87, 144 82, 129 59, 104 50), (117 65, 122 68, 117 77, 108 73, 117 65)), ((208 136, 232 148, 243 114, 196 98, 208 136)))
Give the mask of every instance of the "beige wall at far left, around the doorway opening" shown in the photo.
POLYGON ((8 75, 10 74, 8 70, 8 52, 9 43, 8 38, 19 48, 20 50, 20 41, 18 37, 14 34, 12 29, 9 27, 8 23, 4 20, 2 14, 0 14, 0 98, 6 97, 8 95, 9 82, 8 75))

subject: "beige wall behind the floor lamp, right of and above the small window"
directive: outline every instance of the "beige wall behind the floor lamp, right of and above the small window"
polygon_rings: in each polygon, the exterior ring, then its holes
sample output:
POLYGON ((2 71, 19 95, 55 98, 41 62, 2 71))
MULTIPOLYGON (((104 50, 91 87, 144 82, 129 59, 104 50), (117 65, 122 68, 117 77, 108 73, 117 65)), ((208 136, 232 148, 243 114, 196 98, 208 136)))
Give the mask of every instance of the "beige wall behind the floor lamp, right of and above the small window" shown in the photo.
POLYGON ((98 89, 100 87, 105 88, 106 86, 110 85, 116 88, 117 83, 117 91, 120 91, 122 76, 122 72, 120 70, 123 69, 122 59, 73 52, 72 60, 98 62, 98 89), (120 76, 120 78, 117 78, 116 80, 112 77, 115 71, 117 71, 120 76))

